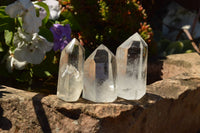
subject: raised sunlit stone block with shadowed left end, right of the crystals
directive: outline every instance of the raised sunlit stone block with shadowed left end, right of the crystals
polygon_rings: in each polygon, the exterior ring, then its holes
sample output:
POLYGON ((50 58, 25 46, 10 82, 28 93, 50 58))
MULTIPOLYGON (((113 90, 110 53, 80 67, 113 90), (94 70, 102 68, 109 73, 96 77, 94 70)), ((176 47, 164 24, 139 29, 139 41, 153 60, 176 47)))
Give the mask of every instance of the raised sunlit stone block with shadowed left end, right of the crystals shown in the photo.
POLYGON ((200 56, 197 53, 174 54, 166 59, 148 63, 148 84, 179 74, 200 74, 200 56))

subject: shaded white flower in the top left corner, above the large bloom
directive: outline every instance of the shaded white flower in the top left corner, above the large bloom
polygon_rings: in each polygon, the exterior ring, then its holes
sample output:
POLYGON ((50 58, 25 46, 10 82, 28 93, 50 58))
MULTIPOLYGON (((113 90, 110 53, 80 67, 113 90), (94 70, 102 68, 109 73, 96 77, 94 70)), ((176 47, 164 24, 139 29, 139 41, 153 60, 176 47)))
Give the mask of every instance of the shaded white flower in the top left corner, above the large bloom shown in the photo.
POLYGON ((11 18, 22 17, 22 27, 27 33, 39 32, 42 20, 36 16, 35 8, 30 0, 18 0, 5 9, 11 18))

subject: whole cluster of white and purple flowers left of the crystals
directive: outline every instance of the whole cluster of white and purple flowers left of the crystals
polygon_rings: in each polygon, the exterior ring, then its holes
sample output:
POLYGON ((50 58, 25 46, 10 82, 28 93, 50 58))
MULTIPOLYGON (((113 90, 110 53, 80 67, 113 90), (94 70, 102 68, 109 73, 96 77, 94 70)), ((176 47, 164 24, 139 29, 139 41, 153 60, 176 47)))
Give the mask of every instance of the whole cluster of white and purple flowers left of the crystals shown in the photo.
POLYGON ((13 33, 13 46, 7 55, 9 72, 12 72, 13 69, 22 70, 29 63, 40 64, 48 51, 52 48, 54 51, 62 50, 71 40, 69 24, 64 26, 52 24, 51 28, 45 26, 48 19, 53 22, 60 16, 61 10, 57 0, 42 2, 17 0, 8 5, 5 12, 10 18, 14 18, 20 23, 16 27, 16 32, 13 33), (39 14, 36 11, 39 11, 39 14), (43 19, 47 19, 47 21, 44 23, 43 19), (40 34, 41 29, 45 29, 42 35, 40 34), (51 38, 46 38, 48 37, 48 35, 45 36, 46 31, 53 35, 54 43, 49 41, 51 38))

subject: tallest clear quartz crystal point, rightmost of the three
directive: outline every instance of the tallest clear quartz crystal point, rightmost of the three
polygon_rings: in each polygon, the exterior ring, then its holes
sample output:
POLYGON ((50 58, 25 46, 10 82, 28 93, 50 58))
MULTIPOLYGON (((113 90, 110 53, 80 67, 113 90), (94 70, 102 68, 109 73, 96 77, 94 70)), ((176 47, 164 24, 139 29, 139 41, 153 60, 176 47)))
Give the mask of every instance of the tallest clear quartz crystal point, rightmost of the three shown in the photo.
POLYGON ((146 93, 148 46, 138 33, 123 42, 116 52, 117 95, 138 100, 146 93))

